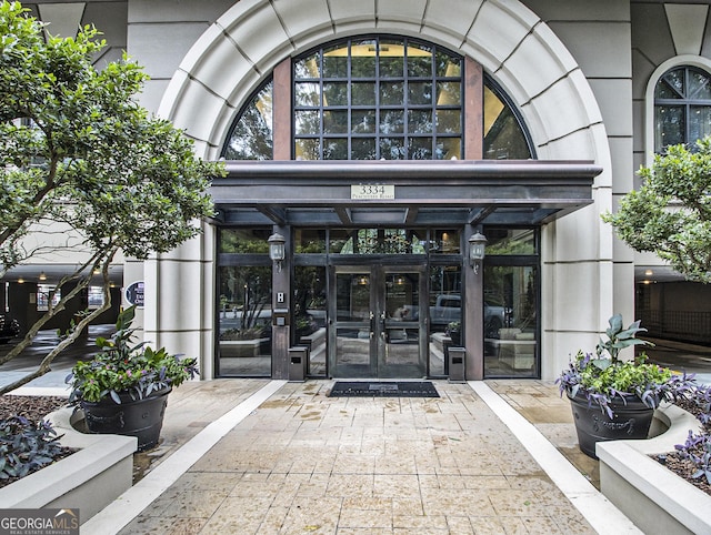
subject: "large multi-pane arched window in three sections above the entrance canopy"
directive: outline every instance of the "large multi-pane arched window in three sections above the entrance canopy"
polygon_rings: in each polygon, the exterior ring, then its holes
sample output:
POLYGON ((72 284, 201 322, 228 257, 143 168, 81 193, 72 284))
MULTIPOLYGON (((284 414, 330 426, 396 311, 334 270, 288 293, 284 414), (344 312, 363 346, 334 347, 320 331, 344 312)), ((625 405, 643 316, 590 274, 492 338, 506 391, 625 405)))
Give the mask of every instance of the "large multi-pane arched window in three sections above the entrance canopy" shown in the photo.
MULTIPOLYGON (((455 53, 397 37, 346 39, 297 57, 291 158, 462 159, 468 89, 463 69, 464 59, 455 53)), ((520 114, 487 75, 480 97, 483 158, 534 158, 520 114)), ((273 158, 273 98, 270 79, 238 114, 222 157, 273 158)))

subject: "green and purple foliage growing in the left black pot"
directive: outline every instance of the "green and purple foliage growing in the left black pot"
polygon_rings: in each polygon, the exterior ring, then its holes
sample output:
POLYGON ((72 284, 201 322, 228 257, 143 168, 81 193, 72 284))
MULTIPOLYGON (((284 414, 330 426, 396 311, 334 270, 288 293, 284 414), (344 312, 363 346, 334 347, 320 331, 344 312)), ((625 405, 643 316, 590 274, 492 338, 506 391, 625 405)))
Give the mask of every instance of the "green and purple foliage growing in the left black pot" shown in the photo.
POLYGON ((136 306, 119 314, 117 332, 110 340, 98 337, 101 352, 89 362, 78 361, 67 377, 70 403, 97 403, 110 397, 121 403, 121 393, 141 400, 170 386, 179 386, 197 374, 196 359, 180 359, 164 347, 152 350, 146 342, 131 342, 136 306))

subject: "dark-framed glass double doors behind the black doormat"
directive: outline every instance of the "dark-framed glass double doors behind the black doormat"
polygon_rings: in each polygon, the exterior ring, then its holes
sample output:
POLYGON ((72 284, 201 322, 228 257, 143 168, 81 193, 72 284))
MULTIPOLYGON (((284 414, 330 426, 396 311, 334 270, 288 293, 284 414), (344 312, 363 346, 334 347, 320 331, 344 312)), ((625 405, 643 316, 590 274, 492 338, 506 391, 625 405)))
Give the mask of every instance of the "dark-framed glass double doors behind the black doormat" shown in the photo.
POLYGON ((421 266, 333 268, 329 325, 333 377, 427 375, 423 273, 421 266))

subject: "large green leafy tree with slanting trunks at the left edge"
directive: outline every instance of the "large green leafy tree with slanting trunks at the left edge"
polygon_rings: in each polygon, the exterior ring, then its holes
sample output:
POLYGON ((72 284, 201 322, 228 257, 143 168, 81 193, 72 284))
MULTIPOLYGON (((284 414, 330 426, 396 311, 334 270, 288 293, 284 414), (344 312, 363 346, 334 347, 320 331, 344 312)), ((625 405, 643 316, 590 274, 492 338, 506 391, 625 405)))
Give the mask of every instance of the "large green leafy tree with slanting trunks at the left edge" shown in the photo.
POLYGON ((168 252, 200 232, 212 214, 207 192, 219 163, 196 158, 192 142, 134 100, 147 75, 127 55, 101 71, 92 57, 106 46, 93 27, 77 38, 44 36, 19 2, 0 3, 0 276, 37 250, 37 229, 69 228, 83 264, 59 282, 61 300, 0 364, 17 356, 51 317, 103 273, 104 305, 87 311, 38 370, 0 388, 13 390, 49 371, 51 361, 110 306, 108 270, 122 250, 140 260, 168 252), (26 242, 23 243, 23 240, 26 242))

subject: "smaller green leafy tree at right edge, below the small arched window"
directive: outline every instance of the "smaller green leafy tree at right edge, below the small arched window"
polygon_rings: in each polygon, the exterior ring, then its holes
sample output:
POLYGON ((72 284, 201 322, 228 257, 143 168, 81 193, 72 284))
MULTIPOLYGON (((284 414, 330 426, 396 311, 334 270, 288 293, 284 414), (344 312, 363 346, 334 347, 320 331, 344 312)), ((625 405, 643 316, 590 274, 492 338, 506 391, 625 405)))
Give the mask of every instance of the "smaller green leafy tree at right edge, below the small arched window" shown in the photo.
POLYGON ((694 282, 711 282, 711 138, 671 145, 642 168, 642 186, 603 215, 635 251, 650 251, 694 282))

